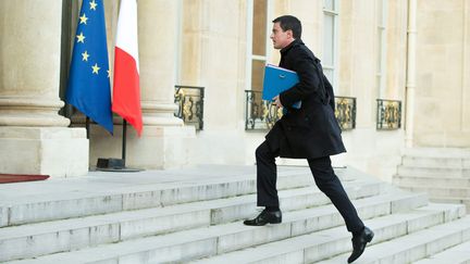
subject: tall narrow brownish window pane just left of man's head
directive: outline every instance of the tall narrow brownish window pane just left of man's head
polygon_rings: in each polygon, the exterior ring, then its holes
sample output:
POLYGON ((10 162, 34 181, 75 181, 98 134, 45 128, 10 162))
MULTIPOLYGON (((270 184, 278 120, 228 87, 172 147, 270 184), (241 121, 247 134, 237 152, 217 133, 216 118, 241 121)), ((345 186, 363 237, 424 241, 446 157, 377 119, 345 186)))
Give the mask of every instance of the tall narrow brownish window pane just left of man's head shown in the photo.
POLYGON ((267 0, 253 1, 252 53, 265 55, 267 0))

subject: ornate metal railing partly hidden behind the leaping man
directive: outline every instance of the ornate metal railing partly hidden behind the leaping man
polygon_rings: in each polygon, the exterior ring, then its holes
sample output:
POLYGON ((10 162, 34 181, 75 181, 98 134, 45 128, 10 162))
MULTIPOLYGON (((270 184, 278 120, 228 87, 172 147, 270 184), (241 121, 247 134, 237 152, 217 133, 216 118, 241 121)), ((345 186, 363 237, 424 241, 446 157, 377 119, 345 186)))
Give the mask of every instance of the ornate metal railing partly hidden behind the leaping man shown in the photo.
MULTIPOLYGON (((269 130, 283 113, 269 101, 261 99, 261 91, 245 90, 245 130, 269 130)), ((335 97, 335 116, 342 130, 356 128, 356 98, 335 97)))

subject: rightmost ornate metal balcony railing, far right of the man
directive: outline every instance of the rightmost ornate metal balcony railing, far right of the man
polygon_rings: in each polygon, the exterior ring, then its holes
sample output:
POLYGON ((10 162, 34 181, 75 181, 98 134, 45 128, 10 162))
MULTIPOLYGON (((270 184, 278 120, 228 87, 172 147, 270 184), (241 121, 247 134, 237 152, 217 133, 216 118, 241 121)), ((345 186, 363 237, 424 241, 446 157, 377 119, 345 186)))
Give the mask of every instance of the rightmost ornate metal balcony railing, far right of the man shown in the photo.
POLYGON ((378 99, 376 129, 392 130, 401 127, 401 101, 378 99))

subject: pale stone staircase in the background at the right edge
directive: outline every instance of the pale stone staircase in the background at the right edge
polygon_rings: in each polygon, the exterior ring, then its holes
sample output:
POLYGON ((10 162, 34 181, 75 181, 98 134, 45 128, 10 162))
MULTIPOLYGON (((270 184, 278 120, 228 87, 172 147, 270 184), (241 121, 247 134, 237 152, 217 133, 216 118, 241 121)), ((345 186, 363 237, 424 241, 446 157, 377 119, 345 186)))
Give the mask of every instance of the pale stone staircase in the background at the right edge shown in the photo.
POLYGON ((470 150, 407 150, 394 184, 406 190, 426 192, 433 202, 466 204, 470 212, 470 150))

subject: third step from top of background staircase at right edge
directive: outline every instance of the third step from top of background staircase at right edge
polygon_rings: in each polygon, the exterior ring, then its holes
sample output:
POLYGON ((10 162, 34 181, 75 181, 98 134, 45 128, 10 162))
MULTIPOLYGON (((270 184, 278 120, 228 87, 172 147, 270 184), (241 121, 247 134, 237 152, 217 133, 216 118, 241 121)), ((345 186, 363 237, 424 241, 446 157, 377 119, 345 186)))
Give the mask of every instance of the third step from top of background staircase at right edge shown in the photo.
POLYGON ((442 168, 442 167, 410 167, 398 165, 399 176, 424 176, 424 177, 470 177, 469 168, 442 168))

